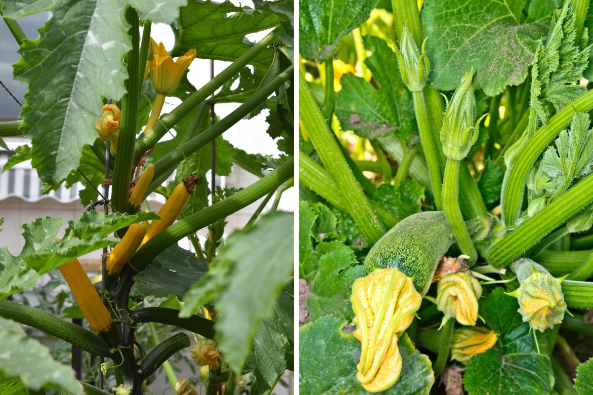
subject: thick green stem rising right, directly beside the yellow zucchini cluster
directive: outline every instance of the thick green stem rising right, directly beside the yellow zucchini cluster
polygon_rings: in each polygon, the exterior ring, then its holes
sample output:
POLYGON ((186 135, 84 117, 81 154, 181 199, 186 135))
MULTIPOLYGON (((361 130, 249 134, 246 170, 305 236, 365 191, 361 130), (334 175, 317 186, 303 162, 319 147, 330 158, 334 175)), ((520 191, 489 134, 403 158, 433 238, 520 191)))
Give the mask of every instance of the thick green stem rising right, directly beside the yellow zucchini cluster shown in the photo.
POLYGON ((243 207, 247 207, 247 205, 262 198, 264 195, 276 190, 283 182, 291 178, 293 172, 294 158, 291 157, 275 169, 275 171, 249 185, 247 188, 238 191, 224 200, 209 205, 197 211, 197 213, 187 216, 183 220, 169 226, 157 236, 152 237, 152 239, 141 246, 134 256, 132 256, 129 266, 132 266, 137 271, 141 271, 152 262, 155 256, 165 251, 173 243, 177 243, 183 237, 195 233, 197 230, 215 223, 241 210, 243 207))

